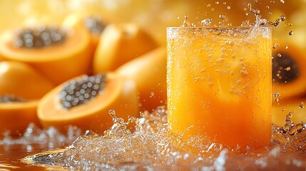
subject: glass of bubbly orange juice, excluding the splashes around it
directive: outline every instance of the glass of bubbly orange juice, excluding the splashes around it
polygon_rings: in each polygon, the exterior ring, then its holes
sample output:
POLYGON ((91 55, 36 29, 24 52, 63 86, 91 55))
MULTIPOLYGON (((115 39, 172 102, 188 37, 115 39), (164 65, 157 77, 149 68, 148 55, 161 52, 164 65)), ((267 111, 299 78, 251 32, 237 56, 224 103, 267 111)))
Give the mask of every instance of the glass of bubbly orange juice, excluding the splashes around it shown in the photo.
POLYGON ((167 28, 168 125, 245 150, 270 144, 271 30, 167 28))

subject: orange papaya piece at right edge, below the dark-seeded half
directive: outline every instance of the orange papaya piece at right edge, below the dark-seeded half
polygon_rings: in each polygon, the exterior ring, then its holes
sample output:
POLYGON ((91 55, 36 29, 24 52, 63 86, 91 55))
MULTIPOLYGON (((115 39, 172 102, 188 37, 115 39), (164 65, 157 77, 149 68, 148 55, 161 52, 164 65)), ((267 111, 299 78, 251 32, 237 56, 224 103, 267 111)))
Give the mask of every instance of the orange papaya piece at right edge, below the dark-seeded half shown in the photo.
POLYGON ((286 115, 292 113, 293 123, 306 122, 306 98, 290 98, 274 102, 272 106, 272 123, 283 126, 286 115))

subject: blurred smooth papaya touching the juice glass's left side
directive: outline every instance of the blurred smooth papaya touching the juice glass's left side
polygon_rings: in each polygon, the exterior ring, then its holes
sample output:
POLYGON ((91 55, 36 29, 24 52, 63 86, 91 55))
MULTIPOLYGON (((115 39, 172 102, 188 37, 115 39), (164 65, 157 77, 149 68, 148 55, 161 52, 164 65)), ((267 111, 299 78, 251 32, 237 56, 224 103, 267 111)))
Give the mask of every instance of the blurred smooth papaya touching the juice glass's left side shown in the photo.
POLYGON ((166 62, 165 47, 162 46, 123 64, 116 70, 118 75, 136 82, 140 110, 151 112, 166 104, 166 62))

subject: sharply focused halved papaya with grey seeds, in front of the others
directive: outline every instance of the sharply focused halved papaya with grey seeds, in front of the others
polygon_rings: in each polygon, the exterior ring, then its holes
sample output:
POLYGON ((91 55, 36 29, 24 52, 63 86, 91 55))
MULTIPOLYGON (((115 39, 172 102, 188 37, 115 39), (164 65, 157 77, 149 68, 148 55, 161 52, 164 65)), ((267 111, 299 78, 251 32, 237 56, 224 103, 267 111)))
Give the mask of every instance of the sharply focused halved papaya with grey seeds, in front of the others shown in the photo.
POLYGON ((68 125, 103 133, 113 125, 109 110, 118 117, 138 115, 136 85, 113 73, 79 76, 57 86, 40 101, 41 124, 65 133, 68 125), (86 95, 87 94, 87 95, 86 95))

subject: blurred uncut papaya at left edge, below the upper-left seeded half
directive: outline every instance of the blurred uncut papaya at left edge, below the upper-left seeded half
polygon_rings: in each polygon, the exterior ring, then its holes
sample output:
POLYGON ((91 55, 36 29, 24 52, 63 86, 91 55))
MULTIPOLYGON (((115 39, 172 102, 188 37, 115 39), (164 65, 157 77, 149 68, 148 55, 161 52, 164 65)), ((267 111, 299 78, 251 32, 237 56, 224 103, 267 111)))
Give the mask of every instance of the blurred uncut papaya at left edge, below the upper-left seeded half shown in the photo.
POLYGON ((0 62, 0 95, 11 94, 26 100, 37 100, 53 87, 51 81, 26 63, 0 62))

